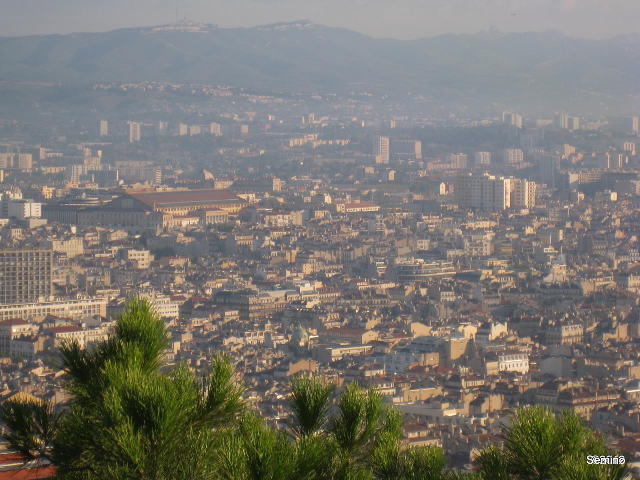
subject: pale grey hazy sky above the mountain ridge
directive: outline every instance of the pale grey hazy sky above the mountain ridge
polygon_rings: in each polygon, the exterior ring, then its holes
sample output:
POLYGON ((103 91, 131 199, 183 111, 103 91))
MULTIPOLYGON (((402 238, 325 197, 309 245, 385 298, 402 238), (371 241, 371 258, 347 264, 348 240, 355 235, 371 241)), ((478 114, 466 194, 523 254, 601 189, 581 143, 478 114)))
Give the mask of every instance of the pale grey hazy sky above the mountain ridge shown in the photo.
MULTIPOLYGON (((559 29, 583 38, 640 32, 640 0, 178 0, 179 17, 221 27, 310 19, 376 37, 559 29), (514 15, 515 14, 515 15, 514 15)), ((175 0, 0 0, 0 36, 170 23, 175 0)))

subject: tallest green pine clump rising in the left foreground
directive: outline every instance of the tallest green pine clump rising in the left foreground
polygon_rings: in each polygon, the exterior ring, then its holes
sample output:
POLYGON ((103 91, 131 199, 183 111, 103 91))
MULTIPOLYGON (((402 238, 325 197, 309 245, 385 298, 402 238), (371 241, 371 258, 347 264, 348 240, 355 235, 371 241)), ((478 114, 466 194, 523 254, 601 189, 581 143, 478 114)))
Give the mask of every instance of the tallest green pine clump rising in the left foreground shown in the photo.
POLYGON ((204 379, 184 365, 162 372, 167 347, 151 305, 127 301, 106 342, 61 348, 72 394, 67 413, 44 401, 3 404, 10 447, 52 461, 62 477, 216 478, 214 451, 242 410, 242 389, 221 355, 204 379))

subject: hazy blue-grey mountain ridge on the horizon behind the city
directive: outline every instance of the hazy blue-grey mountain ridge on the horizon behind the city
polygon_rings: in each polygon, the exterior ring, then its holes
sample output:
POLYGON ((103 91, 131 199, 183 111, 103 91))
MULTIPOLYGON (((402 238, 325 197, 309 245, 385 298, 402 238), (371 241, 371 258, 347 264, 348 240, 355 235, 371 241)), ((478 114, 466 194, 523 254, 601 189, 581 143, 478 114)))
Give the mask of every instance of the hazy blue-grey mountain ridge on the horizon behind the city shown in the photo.
POLYGON ((435 104, 629 112, 640 108, 640 36, 556 31, 371 38, 307 20, 225 29, 180 24, 0 38, 0 80, 207 82, 283 92, 423 95, 435 104))

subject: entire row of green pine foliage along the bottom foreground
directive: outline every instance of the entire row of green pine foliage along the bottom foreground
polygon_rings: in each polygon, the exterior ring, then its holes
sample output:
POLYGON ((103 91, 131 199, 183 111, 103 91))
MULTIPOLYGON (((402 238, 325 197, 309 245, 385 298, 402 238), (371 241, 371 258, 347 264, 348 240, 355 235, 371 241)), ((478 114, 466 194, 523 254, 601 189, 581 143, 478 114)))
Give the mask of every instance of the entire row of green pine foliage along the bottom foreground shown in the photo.
POLYGON ((163 321, 145 300, 127 301, 106 342, 61 348, 72 400, 0 406, 10 447, 47 460, 69 480, 623 480, 624 465, 587 465, 611 454, 579 417, 518 410, 502 445, 453 471, 442 449, 406 448, 401 413, 357 383, 336 388, 292 378, 291 417, 279 431, 242 401, 231 359, 204 378, 163 367, 163 321))

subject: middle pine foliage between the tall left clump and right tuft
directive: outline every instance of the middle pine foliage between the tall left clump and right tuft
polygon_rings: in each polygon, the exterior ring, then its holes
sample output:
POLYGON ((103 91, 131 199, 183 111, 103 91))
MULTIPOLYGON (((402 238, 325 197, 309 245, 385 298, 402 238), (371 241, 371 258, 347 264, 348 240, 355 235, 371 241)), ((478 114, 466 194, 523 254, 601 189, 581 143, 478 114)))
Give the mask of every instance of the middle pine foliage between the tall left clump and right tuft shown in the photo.
MULTIPOLYGON (((350 383, 291 380, 289 434, 260 419, 244 420, 227 442, 221 472, 228 480, 454 480, 441 449, 404 449, 399 412, 383 397, 350 383)), ((471 479, 471 476, 465 476, 471 479)))

